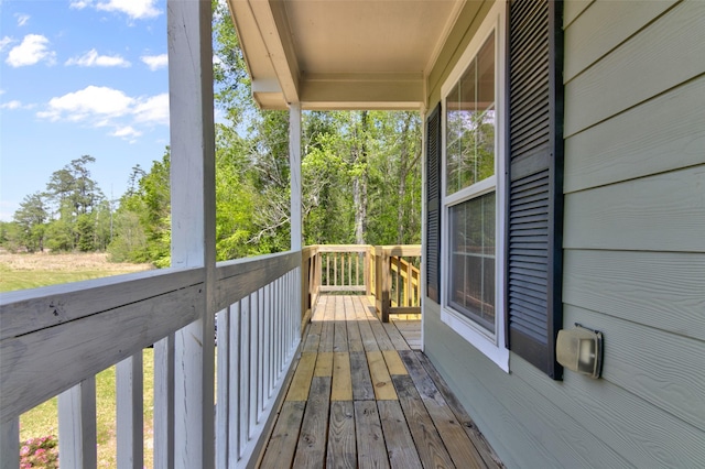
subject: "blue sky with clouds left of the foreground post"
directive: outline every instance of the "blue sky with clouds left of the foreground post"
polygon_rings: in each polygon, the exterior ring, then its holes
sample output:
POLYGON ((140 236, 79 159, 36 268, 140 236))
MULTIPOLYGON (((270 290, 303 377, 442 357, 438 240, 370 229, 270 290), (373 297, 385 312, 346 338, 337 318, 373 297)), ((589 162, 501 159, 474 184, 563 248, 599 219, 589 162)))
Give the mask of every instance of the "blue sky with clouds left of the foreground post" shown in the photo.
POLYGON ((117 199, 167 144, 166 0, 0 0, 0 220, 82 155, 117 199))

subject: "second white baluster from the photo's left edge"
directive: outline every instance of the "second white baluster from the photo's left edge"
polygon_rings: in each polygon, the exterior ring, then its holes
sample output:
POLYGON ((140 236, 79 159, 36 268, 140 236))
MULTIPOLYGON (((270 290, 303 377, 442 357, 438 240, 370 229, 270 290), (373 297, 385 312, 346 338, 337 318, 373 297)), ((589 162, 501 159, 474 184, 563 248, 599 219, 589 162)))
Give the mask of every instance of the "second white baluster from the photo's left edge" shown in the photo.
POLYGON ((62 467, 97 467, 96 436, 96 377, 91 377, 58 395, 62 467))

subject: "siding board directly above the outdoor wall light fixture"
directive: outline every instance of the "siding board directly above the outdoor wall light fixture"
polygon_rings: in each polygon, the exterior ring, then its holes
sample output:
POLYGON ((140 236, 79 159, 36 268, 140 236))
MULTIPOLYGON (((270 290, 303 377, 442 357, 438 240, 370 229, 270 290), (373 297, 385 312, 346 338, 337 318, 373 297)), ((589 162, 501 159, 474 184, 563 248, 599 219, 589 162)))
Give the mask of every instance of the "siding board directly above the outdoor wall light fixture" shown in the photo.
POLYGON ((705 254, 565 250, 563 301, 705 340, 705 254))

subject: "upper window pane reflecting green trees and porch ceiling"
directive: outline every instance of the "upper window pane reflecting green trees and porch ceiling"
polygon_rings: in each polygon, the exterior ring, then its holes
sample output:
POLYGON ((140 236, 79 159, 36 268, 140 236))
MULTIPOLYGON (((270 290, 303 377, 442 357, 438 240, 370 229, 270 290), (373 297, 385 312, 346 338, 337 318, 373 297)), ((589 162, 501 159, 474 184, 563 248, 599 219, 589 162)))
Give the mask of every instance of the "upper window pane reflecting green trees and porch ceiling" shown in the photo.
POLYGON ((446 195, 495 174, 495 34, 446 97, 446 195))

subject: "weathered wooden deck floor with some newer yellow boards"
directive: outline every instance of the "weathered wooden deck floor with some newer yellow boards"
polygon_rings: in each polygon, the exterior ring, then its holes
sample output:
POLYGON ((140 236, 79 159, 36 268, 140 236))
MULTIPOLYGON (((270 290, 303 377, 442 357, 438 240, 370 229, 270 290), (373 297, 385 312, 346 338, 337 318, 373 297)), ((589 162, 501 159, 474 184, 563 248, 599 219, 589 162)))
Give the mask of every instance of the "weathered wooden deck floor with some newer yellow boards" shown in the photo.
POLYGON ((497 468, 431 362, 364 296, 322 296, 262 468, 497 468))

